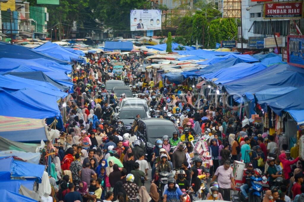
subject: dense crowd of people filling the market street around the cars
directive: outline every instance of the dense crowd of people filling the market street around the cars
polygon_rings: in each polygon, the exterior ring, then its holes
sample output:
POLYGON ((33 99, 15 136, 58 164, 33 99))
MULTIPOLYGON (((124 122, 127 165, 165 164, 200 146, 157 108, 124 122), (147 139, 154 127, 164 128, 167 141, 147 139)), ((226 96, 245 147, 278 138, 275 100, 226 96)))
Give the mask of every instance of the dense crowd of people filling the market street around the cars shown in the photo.
MULTIPOLYGON (((284 178, 284 185, 266 192, 263 201, 304 201, 302 164, 299 157, 291 157, 287 144, 280 149, 275 134, 254 134, 252 125, 243 125, 238 117, 225 116, 222 108, 215 108, 207 99, 198 99, 195 89, 187 85, 155 82, 145 71, 138 71, 143 68, 142 62, 139 56, 113 54, 91 58, 88 64, 77 68, 73 75, 74 93, 64 100, 66 132, 60 133, 57 142, 63 173, 53 187, 57 201, 123 202, 136 197, 140 201, 185 201, 183 189, 193 192, 192 200, 197 200, 205 194, 200 190, 202 174, 211 179, 206 199, 230 201, 230 190, 235 189, 233 160, 243 161, 249 170, 266 172, 270 184, 278 177, 284 178), (122 75, 113 73, 111 64, 115 61, 125 62, 122 75), (105 89, 106 81, 119 78, 154 109, 153 117, 173 122, 172 118, 178 117, 183 128, 180 137, 174 131, 155 141, 149 192, 144 186, 149 164, 143 142, 135 134, 140 116, 127 131, 115 113, 115 106, 124 95, 118 98, 105 89), (194 152, 191 141, 204 135, 209 137, 213 162, 210 169, 203 166, 202 159, 190 157, 194 152), (161 172, 171 173, 163 192, 158 176, 161 172)), ((241 187, 246 199, 249 186, 241 187)))

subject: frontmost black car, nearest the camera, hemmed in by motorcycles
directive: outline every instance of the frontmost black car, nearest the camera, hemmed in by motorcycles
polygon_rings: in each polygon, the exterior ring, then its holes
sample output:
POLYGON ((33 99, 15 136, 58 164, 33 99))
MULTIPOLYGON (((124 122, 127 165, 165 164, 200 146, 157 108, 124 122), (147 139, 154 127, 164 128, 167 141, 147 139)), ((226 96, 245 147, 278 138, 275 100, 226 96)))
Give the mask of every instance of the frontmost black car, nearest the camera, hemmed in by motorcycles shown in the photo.
POLYGON ((153 152, 156 139, 163 138, 164 135, 168 135, 171 138, 173 131, 179 131, 174 126, 172 121, 163 118, 145 118, 141 119, 138 123, 136 135, 140 139, 144 146, 147 158, 151 160, 151 153, 153 152))

